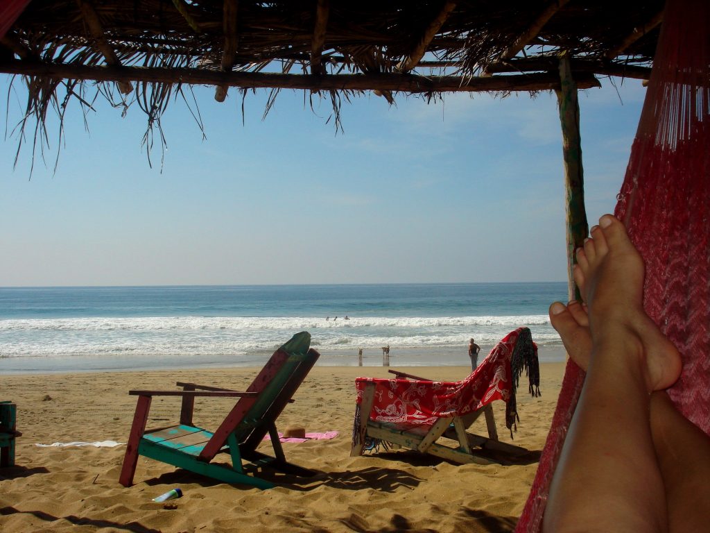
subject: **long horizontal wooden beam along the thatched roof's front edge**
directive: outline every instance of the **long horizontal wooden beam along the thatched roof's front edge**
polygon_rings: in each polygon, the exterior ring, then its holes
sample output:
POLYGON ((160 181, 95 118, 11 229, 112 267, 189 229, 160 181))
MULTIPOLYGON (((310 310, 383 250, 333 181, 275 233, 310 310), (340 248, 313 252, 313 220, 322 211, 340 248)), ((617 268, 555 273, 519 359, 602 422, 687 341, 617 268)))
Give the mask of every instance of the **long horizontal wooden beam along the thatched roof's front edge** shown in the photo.
MULTIPOLYGON (((381 90, 409 93, 545 91, 559 88, 557 72, 490 77, 416 76, 397 73, 347 75, 296 75, 271 72, 220 72, 191 68, 146 68, 119 66, 52 65, 26 60, 0 62, 0 72, 55 79, 114 80, 188 85, 228 85, 248 89, 381 90)), ((601 87, 594 75, 580 73, 577 87, 601 87)))

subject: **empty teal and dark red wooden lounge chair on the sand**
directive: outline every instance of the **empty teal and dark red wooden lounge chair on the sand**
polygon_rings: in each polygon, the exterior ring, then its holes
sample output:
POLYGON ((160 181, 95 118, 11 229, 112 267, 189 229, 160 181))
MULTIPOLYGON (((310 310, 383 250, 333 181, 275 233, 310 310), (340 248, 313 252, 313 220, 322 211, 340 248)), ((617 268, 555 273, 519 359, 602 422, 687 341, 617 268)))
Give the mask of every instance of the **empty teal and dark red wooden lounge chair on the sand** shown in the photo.
POLYGON ((309 476, 315 472, 288 463, 283 454, 275 420, 300 386, 320 354, 309 349, 310 334, 297 333, 276 350, 244 392, 178 382, 178 391, 132 390, 138 396, 131 435, 119 481, 133 483, 138 456, 145 456, 207 475, 225 483, 272 488, 274 483, 253 475, 268 466, 283 473, 309 476), (180 424, 146 431, 148 409, 154 396, 181 396, 180 424), (236 397, 219 428, 212 433, 192 424, 195 397, 236 397), (256 451, 266 434, 271 436, 274 456, 256 451), (231 466, 214 461, 218 453, 229 453, 231 466), (243 464, 247 461, 247 464, 243 464), (252 475, 249 475, 251 473, 252 475))

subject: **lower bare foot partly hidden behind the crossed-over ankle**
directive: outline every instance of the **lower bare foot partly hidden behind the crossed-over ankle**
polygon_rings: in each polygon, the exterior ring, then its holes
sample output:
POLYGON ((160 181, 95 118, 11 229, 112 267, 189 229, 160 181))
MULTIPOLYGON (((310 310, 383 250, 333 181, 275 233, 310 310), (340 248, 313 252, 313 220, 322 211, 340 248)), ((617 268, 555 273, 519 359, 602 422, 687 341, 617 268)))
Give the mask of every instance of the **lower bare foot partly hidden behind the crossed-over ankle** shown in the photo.
POLYGON ((591 333, 584 305, 576 300, 567 306, 560 302, 553 303, 550 306, 550 323, 559 333, 569 357, 586 371, 591 355, 591 333))

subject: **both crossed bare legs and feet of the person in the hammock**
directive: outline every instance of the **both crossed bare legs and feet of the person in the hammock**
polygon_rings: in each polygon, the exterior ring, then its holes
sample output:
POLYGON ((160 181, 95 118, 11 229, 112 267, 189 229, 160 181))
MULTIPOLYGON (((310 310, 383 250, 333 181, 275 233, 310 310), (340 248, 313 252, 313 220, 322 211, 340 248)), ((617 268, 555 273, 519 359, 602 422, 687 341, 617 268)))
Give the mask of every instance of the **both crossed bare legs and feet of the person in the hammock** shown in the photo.
POLYGON ((574 266, 586 305, 550 306, 586 377, 542 530, 706 531, 710 437, 665 392, 680 375, 680 354, 643 310, 643 259, 626 228, 604 215, 590 233, 574 266))

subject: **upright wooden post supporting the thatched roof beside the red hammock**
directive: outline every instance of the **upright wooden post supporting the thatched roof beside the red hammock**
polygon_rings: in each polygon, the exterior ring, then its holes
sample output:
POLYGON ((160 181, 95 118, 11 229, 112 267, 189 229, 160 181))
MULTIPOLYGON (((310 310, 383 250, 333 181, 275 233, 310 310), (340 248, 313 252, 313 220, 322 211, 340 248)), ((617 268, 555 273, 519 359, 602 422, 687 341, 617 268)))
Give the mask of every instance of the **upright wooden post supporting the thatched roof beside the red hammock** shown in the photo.
POLYGON ((565 212, 567 214, 567 282, 569 300, 581 301, 579 287, 574 283, 572 268, 577 262, 574 251, 589 235, 584 208, 584 173, 581 164, 581 137, 579 135, 579 102, 577 85, 572 79, 569 55, 559 58, 560 90, 557 91, 559 122, 562 124, 562 156, 564 159, 565 212))

